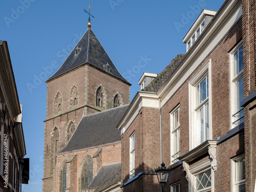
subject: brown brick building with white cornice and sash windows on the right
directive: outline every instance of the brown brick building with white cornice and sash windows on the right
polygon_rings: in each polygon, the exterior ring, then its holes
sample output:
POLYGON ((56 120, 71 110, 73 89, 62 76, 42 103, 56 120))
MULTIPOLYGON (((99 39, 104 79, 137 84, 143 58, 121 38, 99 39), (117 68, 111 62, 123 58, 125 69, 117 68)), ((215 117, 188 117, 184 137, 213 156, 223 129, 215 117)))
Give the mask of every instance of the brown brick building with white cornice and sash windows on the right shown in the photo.
POLYGON ((118 124, 122 191, 160 191, 162 161, 165 191, 254 191, 254 22, 255 1, 203 10, 186 54, 143 84, 118 124))

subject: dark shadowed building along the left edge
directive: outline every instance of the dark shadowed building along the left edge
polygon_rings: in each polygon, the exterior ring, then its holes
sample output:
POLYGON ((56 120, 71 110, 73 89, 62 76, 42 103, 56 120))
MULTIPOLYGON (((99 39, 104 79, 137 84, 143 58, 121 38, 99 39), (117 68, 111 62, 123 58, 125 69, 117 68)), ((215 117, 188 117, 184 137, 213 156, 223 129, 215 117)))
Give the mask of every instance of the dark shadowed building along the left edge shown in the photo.
POLYGON ((11 58, 6 41, 0 40, 0 191, 21 191, 29 181, 19 103, 11 58))

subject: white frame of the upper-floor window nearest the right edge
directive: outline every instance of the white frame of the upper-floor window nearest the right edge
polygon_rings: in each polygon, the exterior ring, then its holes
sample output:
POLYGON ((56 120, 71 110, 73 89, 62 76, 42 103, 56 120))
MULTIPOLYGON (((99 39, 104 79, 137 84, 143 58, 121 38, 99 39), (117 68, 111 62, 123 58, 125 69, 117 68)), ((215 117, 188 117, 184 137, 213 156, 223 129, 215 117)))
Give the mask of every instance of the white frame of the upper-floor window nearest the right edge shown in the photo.
POLYGON ((243 41, 241 40, 239 42, 239 44, 237 44, 232 51, 230 51, 229 53, 229 63, 230 63, 230 70, 229 70, 229 76, 230 76, 230 129, 233 129, 234 127, 236 127, 237 125, 233 124, 233 117, 232 115, 234 113, 236 113, 235 111, 235 83, 238 79, 240 79, 243 76, 243 70, 237 74, 236 76, 234 76, 234 53, 237 52, 237 50, 239 48, 241 48, 243 46, 243 41))

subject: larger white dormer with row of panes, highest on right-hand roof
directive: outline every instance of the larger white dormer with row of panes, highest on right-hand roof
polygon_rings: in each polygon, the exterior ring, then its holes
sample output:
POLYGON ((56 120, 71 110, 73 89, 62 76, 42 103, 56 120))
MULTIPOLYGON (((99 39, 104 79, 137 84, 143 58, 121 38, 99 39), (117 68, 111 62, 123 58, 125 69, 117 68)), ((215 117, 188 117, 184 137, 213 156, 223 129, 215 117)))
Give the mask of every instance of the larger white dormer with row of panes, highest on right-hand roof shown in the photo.
POLYGON ((196 22, 183 38, 183 43, 186 44, 186 52, 194 45, 216 13, 217 11, 203 9, 196 22))

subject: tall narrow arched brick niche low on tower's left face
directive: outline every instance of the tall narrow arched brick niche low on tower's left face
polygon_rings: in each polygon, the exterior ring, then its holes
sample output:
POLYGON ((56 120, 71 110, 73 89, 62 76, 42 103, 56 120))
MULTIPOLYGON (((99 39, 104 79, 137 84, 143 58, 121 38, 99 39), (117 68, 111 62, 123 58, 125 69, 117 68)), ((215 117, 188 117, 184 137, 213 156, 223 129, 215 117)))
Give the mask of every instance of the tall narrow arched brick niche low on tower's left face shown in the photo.
POLYGON ((51 175, 53 171, 53 167, 56 164, 56 153, 59 151, 59 131, 57 127, 54 128, 52 132, 52 137, 51 137, 51 175))

